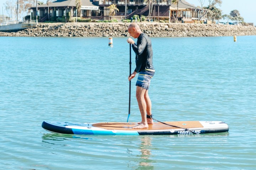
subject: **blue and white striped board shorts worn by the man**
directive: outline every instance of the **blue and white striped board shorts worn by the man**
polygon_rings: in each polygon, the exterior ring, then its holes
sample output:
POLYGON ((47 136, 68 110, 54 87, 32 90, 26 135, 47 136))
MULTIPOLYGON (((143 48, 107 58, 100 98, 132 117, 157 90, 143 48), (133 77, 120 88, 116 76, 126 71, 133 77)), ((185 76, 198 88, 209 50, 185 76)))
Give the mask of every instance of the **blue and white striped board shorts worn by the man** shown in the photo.
POLYGON ((150 80, 153 78, 155 70, 145 69, 139 72, 136 86, 142 87, 143 89, 148 90, 150 86, 150 80))

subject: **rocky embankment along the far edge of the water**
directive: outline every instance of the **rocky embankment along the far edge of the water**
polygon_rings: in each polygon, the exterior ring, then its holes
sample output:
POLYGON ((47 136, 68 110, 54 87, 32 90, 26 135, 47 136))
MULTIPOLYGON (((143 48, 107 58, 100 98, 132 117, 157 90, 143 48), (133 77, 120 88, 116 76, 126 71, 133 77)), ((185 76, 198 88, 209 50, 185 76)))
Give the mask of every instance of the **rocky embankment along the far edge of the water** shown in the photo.
MULTIPOLYGON (((138 23, 149 36, 243 36, 256 35, 256 27, 218 24, 138 23)), ((129 23, 41 23, 0 36, 129 36, 129 23)))

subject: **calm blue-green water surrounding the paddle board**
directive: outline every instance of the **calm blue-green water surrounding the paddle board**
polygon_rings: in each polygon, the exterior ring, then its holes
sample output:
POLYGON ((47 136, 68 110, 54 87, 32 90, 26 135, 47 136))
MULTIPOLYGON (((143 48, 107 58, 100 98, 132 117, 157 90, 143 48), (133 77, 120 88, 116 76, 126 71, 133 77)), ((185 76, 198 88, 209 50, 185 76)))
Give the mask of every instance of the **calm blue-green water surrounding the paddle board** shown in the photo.
MULTIPOLYGON (((256 169, 256 36, 151 38, 161 121, 217 120, 229 133, 73 136, 43 120, 123 121, 127 38, 0 37, 0 169, 256 169)), ((135 68, 132 53, 132 69, 135 68)), ((132 81, 131 116, 139 121, 132 81)))

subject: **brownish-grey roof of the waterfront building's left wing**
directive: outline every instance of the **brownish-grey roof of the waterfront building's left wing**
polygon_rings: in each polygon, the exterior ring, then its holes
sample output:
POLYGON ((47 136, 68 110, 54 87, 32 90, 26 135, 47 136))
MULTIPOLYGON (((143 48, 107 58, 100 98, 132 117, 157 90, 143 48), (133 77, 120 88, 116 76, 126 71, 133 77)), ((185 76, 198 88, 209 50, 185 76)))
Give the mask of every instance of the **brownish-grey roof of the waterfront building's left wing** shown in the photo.
MULTIPOLYGON (((96 6, 92 3, 92 0, 81 0, 82 6, 96 6)), ((49 4, 49 7, 75 7, 75 0, 57 0, 49 4)), ((48 7, 47 4, 37 5, 38 8, 48 7)), ((35 8, 35 6, 31 7, 35 8)))

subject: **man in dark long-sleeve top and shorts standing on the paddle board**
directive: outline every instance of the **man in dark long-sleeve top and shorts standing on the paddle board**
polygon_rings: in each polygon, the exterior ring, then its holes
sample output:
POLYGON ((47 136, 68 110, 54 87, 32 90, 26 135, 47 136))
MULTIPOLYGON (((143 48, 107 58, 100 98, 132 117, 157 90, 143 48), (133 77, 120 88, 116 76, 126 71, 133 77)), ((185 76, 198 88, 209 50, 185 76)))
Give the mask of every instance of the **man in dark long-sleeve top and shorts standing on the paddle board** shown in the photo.
POLYGON ((136 23, 131 23, 128 26, 128 33, 133 38, 137 38, 137 44, 135 44, 131 38, 127 39, 127 42, 132 44, 133 51, 136 54, 136 68, 128 77, 128 80, 130 81, 137 73, 139 73, 136 83, 136 98, 142 117, 142 121, 133 128, 148 128, 148 124, 153 124, 153 120, 151 118, 151 101, 148 95, 148 89, 150 86, 150 80, 155 74, 152 61, 153 51, 151 40, 140 30, 136 23))

